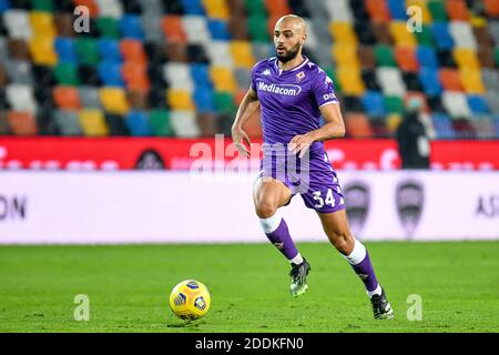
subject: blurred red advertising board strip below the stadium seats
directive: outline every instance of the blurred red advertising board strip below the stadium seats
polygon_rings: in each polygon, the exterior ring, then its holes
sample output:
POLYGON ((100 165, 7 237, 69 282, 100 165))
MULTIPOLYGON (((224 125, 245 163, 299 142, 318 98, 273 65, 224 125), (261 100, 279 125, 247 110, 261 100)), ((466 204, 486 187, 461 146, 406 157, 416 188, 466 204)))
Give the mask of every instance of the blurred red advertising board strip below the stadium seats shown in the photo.
MULTIPOLYGON (((254 142, 257 166, 259 142, 254 142)), ((326 142, 336 169, 393 170, 400 166, 394 140, 326 142)), ((200 159, 223 161, 237 154, 228 139, 160 138, 0 138, 0 169, 121 170, 165 168, 189 170, 200 159)), ((499 170, 499 141, 435 141, 431 166, 440 170, 499 170)))

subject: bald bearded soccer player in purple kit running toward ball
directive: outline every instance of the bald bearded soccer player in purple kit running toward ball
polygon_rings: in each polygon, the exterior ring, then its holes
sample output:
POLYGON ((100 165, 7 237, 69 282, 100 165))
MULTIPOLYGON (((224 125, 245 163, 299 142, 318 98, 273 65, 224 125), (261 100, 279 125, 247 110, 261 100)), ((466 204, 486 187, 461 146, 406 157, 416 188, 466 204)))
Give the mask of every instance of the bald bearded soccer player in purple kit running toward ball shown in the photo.
POLYGON ((276 22, 276 57, 253 68, 252 85, 238 108, 232 138, 240 153, 249 156, 245 144, 251 145, 251 141, 243 126, 259 106, 264 158, 253 200, 265 234, 291 263, 292 295, 307 291, 310 265, 296 248, 278 209, 299 193, 305 205, 317 212, 330 243, 364 282, 374 317, 393 318, 369 254, 350 234, 339 182, 324 150, 324 141, 345 135, 345 124, 333 81, 302 54, 306 38, 302 18, 289 14, 276 22), (322 126, 320 116, 325 122, 322 126))

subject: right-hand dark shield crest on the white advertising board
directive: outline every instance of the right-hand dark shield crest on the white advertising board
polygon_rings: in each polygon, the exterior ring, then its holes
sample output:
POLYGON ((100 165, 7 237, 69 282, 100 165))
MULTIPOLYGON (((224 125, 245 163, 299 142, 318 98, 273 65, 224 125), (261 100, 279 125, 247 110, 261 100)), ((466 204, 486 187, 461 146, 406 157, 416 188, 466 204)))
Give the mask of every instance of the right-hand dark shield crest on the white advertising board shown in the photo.
POLYGON ((422 185, 414 180, 404 181, 397 185, 395 195, 398 217, 407 235, 410 236, 421 217, 425 201, 422 185))

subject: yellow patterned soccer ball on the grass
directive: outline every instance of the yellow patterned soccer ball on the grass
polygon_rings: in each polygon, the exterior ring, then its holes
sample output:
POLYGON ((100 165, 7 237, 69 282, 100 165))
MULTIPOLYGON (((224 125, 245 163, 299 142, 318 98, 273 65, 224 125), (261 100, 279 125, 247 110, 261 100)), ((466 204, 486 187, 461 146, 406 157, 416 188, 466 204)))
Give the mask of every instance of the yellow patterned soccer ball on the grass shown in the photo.
POLYGON ((210 292, 195 280, 185 280, 173 287, 170 294, 170 307, 182 320, 197 320, 210 310, 210 292))

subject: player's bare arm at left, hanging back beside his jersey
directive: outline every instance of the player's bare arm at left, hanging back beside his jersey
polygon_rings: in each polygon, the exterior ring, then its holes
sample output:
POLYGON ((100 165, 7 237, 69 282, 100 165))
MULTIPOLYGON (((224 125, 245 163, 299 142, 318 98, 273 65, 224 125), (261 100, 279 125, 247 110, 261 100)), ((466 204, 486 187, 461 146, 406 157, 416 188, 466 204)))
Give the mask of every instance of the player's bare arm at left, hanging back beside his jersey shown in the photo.
POLYGON ((251 140, 243 128, 247 120, 249 120, 253 113, 255 113, 255 111, 258 109, 258 97, 256 95, 256 92, 252 88, 249 88, 243 101, 241 102, 241 105, 236 113, 236 118, 232 125, 232 140, 236 145, 240 154, 246 158, 249 158, 249 151, 246 145, 244 145, 244 143, 249 146, 251 140))

